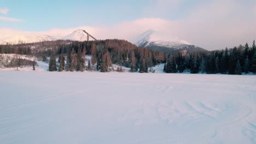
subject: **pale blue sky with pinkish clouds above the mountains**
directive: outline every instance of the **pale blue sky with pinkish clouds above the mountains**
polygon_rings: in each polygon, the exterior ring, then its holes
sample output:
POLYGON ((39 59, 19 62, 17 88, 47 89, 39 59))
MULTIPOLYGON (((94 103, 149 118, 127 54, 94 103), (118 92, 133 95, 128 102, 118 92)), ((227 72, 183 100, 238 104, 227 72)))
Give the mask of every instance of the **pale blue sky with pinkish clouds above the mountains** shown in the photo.
POLYGON ((255 0, 0 0, 0 40, 56 38, 86 29, 97 39, 133 40, 155 29, 207 50, 256 39, 255 0))

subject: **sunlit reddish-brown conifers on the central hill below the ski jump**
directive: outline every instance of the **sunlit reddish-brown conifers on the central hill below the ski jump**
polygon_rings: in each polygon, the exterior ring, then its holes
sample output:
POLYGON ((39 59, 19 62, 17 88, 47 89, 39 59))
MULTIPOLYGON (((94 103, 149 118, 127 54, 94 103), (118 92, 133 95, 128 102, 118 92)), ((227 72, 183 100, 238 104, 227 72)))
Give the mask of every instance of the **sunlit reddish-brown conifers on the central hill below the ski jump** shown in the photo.
MULTIPOLYGON (((43 59, 46 61, 45 55, 43 59)), ((51 53, 49 71, 83 71, 86 69, 108 72, 113 71, 113 64, 116 64, 119 65, 117 71, 123 71, 122 67, 126 67, 130 68, 131 72, 139 70, 140 73, 148 73, 149 67, 164 63, 165 59, 164 52, 138 48, 125 40, 74 41, 71 45, 57 47, 51 53), (59 55, 58 62, 55 60, 56 55, 59 55), (86 67, 85 55, 91 55, 91 60, 86 67)))

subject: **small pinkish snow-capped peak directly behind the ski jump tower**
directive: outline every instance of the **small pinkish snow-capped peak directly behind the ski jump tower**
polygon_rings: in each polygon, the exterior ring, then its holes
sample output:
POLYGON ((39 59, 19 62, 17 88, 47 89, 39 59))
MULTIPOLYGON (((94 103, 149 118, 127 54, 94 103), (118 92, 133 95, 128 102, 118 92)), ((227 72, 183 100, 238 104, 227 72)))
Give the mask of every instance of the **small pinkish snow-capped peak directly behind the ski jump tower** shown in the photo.
POLYGON ((85 41, 87 40, 87 34, 83 32, 83 29, 78 29, 71 34, 66 35, 61 38, 63 40, 77 40, 77 41, 85 41))

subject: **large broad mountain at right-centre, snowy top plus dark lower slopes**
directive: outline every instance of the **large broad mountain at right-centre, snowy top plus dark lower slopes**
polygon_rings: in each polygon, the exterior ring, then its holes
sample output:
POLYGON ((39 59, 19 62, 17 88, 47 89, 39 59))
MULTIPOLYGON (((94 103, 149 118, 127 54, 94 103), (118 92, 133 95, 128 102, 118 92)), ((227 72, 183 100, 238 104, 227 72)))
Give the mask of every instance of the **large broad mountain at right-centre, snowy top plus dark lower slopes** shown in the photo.
POLYGON ((177 54, 181 51, 186 53, 207 51, 201 47, 191 45, 188 41, 171 37, 159 31, 149 29, 132 40, 138 47, 149 47, 149 49, 177 54))

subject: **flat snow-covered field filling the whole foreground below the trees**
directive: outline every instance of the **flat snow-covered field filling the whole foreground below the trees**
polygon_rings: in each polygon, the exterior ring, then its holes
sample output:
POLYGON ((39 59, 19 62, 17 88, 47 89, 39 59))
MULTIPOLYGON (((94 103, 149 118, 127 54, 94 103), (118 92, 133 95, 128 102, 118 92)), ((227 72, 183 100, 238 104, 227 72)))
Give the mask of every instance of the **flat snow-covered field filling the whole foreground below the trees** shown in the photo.
POLYGON ((256 76, 0 71, 0 143, 256 143, 256 76))

